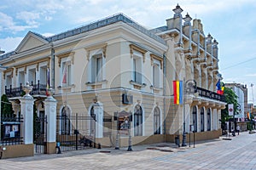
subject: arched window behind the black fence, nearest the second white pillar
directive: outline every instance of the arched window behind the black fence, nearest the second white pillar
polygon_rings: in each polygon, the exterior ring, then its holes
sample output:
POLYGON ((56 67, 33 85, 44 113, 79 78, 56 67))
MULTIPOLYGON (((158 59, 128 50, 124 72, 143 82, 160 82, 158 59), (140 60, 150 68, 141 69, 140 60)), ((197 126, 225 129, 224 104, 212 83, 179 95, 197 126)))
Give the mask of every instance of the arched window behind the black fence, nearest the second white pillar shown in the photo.
POLYGON ((61 111, 61 134, 70 134, 70 109, 67 106, 61 111))

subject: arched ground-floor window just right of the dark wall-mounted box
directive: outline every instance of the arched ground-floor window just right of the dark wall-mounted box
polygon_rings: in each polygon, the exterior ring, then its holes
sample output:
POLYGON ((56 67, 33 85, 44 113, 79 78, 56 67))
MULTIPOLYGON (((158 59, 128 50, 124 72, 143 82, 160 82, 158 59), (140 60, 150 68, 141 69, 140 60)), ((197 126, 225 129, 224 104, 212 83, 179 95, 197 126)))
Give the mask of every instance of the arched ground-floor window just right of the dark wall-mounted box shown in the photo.
POLYGON ((134 136, 143 135, 143 109, 140 105, 134 108, 134 136))

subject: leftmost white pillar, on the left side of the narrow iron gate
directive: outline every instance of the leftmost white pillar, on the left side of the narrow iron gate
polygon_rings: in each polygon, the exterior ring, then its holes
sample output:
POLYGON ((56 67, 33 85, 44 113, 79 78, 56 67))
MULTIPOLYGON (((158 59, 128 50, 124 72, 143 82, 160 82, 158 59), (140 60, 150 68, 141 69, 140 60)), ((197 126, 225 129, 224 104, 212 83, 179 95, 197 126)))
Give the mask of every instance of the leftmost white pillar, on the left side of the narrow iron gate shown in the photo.
POLYGON ((26 94, 20 98, 20 111, 23 116, 22 136, 24 144, 33 143, 33 105, 34 99, 26 94))

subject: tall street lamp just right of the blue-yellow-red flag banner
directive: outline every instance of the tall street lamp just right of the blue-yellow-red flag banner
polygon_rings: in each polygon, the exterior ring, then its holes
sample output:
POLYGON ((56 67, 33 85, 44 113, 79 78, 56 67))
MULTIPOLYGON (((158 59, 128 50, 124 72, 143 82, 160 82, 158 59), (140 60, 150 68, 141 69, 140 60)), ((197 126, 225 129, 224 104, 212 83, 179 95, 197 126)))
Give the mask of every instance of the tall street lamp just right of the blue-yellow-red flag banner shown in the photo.
MULTIPOLYGON (((185 80, 185 79, 184 79, 185 80)), ((185 81, 184 81, 185 82, 185 81)), ((196 82, 195 80, 189 79, 185 82, 184 88, 183 88, 183 144, 182 146, 186 146, 186 109, 185 109, 185 98, 184 94, 195 94, 196 93, 196 82)))

